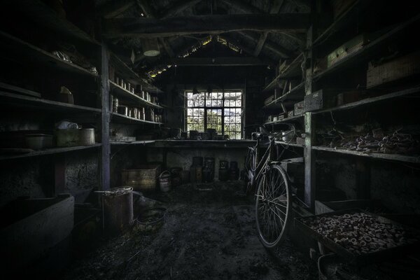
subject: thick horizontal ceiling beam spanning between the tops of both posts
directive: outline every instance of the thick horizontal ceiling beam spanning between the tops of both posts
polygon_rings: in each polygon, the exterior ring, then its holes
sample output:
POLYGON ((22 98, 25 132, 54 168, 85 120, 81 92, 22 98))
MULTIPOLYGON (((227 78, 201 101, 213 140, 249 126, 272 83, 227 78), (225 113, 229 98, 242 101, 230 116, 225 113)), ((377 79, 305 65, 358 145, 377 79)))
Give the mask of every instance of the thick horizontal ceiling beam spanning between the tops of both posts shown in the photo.
POLYGON ((308 13, 281 15, 201 15, 166 18, 113 18, 104 20, 104 36, 162 37, 186 34, 219 34, 227 31, 304 31, 308 13))

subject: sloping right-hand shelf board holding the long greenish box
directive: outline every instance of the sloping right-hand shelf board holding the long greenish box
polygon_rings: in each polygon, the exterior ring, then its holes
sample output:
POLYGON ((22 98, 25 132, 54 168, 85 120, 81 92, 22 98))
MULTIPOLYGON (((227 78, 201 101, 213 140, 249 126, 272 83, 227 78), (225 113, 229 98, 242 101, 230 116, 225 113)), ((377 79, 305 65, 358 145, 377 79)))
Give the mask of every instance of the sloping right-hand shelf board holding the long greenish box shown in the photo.
POLYGON ((416 15, 414 18, 411 18, 402 24, 398 25, 397 27, 391 29, 390 31, 386 32, 386 34, 380 36, 376 40, 370 42, 365 47, 357 50, 356 52, 347 55, 339 62, 335 63, 334 65, 330 66, 330 68, 325 69, 321 73, 317 73, 314 75, 313 80, 320 80, 321 78, 328 77, 332 73, 337 73, 338 71, 342 71, 346 68, 351 66, 356 66, 357 64, 367 62, 368 59, 372 59, 374 55, 377 54, 377 51, 386 43, 391 42, 393 39, 397 38, 401 32, 414 23, 420 20, 420 15, 416 15))

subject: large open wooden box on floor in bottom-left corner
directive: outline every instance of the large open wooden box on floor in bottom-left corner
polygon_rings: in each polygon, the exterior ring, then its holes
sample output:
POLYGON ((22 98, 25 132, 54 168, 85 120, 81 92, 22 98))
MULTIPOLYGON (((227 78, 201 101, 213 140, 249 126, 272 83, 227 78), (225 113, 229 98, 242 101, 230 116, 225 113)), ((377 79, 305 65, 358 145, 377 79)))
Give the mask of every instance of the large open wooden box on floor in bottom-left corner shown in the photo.
POLYGON ((16 272, 16 269, 48 261, 54 254, 53 248, 71 235, 74 197, 62 194, 52 198, 18 199, 2 207, 0 213, 3 213, 2 264, 6 272, 7 269, 16 272))

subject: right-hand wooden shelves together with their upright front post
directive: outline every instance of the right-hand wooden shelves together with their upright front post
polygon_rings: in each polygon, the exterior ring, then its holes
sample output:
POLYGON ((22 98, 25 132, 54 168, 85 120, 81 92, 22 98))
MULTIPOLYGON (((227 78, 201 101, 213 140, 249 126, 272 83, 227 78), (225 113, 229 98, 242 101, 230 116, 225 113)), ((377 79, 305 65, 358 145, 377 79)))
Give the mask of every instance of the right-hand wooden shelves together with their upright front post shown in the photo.
MULTIPOLYGON (((356 22, 360 19, 360 17, 365 16, 367 14, 368 7, 370 6, 372 1, 355 1, 342 15, 339 16, 332 22, 332 25, 325 29, 318 37, 316 37, 316 29, 308 29, 307 33, 307 53, 305 57, 307 57, 307 66, 314 65, 314 63, 310 63, 311 59, 322 59, 325 54, 323 52, 329 52, 337 48, 340 43, 339 37, 345 37, 345 34, 340 35, 340 32, 343 29, 347 29, 347 27, 351 27, 351 25, 356 25, 356 22), (321 52, 321 48, 323 52, 321 52), (325 49, 325 50, 324 50, 325 49), (322 53, 322 54, 321 54, 322 53), (316 57, 316 55, 320 55, 320 57, 316 57)), ((293 88, 286 94, 283 94, 281 97, 277 97, 274 101, 270 102, 269 104, 262 107, 262 109, 267 110, 274 110, 280 109, 281 103, 284 106, 288 107, 293 102, 300 102, 304 99, 305 94, 311 94, 315 90, 320 90, 322 88, 328 88, 328 78, 332 78, 334 75, 342 75, 346 73, 346 71, 353 71, 357 66, 363 65, 363 69, 367 68, 367 62, 372 59, 379 59, 382 53, 385 53, 386 46, 392 43, 395 40, 408 40, 405 38, 404 34, 406 31, 412 30, 414 31, 414 27, 418 27, 420 22, 420 14, 414 15, 412 18, 407 18, 406 20, 402 20, 399 24, 393 25, 393 27, 388 27, 386 30, 381 30, 381 35, 377 38, 374 38, 370 43, 365 45, 363 48, 352 52, 346 57, 340 59, 338 62, 330 66, 328 69, 321 71, 319 73, 311 73, 307 71, 304 81, 297 85, 297 87, 293 88), (320 83, 321 82, 321 83, 320 83)), ((360 32, 363 29, 360 29, 360 32)), ((344 43, 343 40, 342 43, 344 43)), ((263 92, 268 92, 269 90, 273 90, 276 87, 279 80, 288 78, 293 76, 294 71, 297 69, 297 65, 301 65, 303 57, 297 57, 292 64, 290 64, 289 68, 286 69, 283 73, 279 76, 276 76, 274 80, 272 80, 267 87, 263 90, 263 92)), ((307 69, 309 70, 309 69, 307 69)), ((312 69, 313 70, 313 69, 312 69)), ((353 77, 352 77, 353 78, 353 77)), ((354 77, 356 78, 356 77, 354 77)), ((359 79, 362 79, 359 77, 359 79)), ((333 80, 332 82, 335 82, 333 80)), ((364 88, 363 82, 360 81, 361 88, 364 88)), ((305 183, 304 183, 304 197, 302 197, 302 201, 306 204, 309 209, 313 209, 314 207, 314 200, 316 200, 316 158, 323 157, 326 153, 334 154, 336 157, 353 157, 351 160, 356 160, 358 165, 367 166, 370 165, 374 160, 386 160, 390 162, 402 162, 407 165, 416 165, 420 163, 420 156, 417 155, 400 155, 400 154, 384 154, 384 153, 361 153, 357 151, 349 151, 346 149, 341 148, 328 148, 325 146, 317 146, 316 145, 316 132, 318 129, 322 128, 322 122, 317 122, 318 118, 323 118, 323 116, 327 116, 330 113, 337 113, 341 111, 351 111, 357 110, 360 111, 367 111, 370 106, 372 105, 380 105, 384 104, 384 102, 393 102, 393 100, 405 98, 405 97, 418 97, 420 94, 420 85, 418 83, 400 85, 396 87, 388 87, 388 90, 367 90, 365 93, 367 97, 365 99, 358 100, 356 102, 351 102, 348 104, 343 104, 341 106, 333 106, 328 109, 321 109, 318 111, 311 111, 303 113, 302 116, 293 116, 292 118, 285 118, 283 120, 278 120, 276 122, 269 122, 265 123, 266 127, 273 127, 274 125, 281 125, 284 123, 295 123, 297 120, 302 121, 304 125, 304 133, 306 134, 305 145, 297 145, 297 144, 287 144, 282 141, 276 141, 276 144, 288 147, 300 147, 303 149, 304 155, 304 176, 305 176, 305 183), (320 127, 318 127, 318 125, 320 127)), ((331 87, 335 87, 335 83, 332 83, 331 87)), ((337 94, 341 92, 337 91, 337 94)), ((324 97, 325 98, 325 97, 324 97)), ((410 99, 414 100, 414 99, 410 99)), ((414 101, 416 102, 416 101, 414 101)), ((400 104, 400 103, 398 103, 400 104)), ((377 112, 379 113, 379 112, 377 112)), ((330 116, 328 116, 330 118, 330 116)), ((349 159, 350 159, 349 158, 349 159)), ((363 169, 369 170, 369 168, 363 169)), ((360 175, 360 174, 359 174, 360 175)), ((358 175, 358 176, 359 176, 358 175)), ((360 176, 369 176, 368 174, 360 175, 360 176)), ((369 188, 368 185, 358 186, 358 188, 369 188)))

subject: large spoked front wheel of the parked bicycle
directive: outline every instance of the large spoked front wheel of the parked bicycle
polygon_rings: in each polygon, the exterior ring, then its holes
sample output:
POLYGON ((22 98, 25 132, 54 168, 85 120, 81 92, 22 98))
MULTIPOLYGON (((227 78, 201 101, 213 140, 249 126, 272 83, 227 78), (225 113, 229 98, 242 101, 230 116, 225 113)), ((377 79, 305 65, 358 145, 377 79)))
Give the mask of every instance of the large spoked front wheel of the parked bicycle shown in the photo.
POLYGON ((263 246, 274 248, 286 237, 290 223, 292 193, 286 172, 270 165, 262 174, 255 200, 258 237, 263 246))

